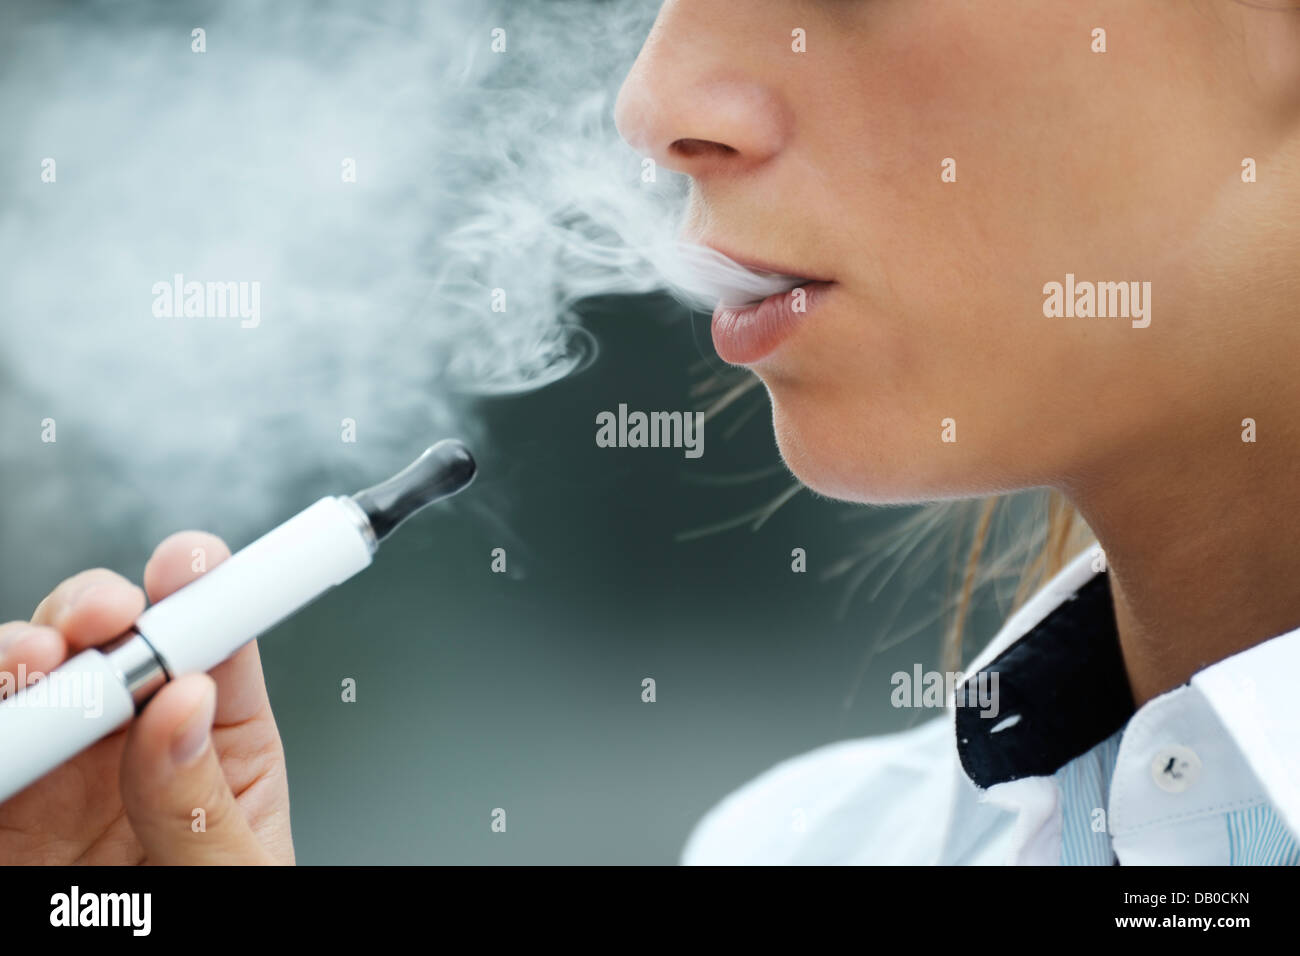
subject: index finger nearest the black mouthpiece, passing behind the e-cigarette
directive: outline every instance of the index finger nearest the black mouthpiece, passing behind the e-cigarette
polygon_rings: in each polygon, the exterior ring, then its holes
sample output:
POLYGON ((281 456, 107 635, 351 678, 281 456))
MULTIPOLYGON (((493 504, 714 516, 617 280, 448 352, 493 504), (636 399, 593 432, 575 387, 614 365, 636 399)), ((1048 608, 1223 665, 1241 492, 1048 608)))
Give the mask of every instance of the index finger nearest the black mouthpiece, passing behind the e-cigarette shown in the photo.
MULTIPOLYGON (((161 601, 229 557, 230 549, 216 535, 178 532, 162 541, 144 566, 144 591, 150 601, 161 601)), ((270 706, 256 644, 217 665, 212 676, 217 682, 217 726, 242 723, 270 706)))

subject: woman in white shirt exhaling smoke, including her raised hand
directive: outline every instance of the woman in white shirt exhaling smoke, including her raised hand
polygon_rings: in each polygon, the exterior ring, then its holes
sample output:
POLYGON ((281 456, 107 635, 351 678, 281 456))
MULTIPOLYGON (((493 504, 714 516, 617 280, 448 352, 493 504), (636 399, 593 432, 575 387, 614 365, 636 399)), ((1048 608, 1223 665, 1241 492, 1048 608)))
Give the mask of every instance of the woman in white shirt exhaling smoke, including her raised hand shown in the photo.
MULTIPOLYGON (((774 769, 686 861, 1300 861, 1300 12, 670 0, 618 122, 692 178, 688 239, 789 277, 714 337, 805 484, 1046 486, 1101 545, 945 717, 774 769)), ((169 538, 150 598, 195 548, 225 553, 169 538)), ((84 572, 0 631, 3 666, 48 670, 143 602, 84 572)), ((0 808, 6 861, 291 855, 252 646, 0 808)))

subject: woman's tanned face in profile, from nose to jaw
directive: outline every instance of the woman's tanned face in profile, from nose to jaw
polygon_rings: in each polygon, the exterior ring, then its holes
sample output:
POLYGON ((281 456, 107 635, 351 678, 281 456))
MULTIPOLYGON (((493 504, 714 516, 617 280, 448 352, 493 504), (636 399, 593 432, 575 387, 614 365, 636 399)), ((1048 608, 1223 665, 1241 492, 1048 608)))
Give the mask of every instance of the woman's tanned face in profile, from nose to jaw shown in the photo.
POLYGON ((746 359, 807 485, 1069 488, 1239 441, 1271 401, 1260 363, 1294 364, 1278 291, 1300 260, 1279 246, 1290 222, 1261 221, 1296 195, 1296 18, 1232 0, 670 0, 618 122, 692 177, 686 238, 832 282, 746 359), (1067 274, 1149 300, 1044 315, 1067 274))

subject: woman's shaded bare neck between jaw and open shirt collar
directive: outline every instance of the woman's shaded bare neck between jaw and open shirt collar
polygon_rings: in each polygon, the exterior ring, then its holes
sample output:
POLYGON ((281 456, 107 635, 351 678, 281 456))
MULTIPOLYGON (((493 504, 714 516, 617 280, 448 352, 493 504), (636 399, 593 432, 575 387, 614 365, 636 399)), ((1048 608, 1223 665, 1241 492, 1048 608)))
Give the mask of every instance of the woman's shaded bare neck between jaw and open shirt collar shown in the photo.
POLYGON ((1294 414, 1261 418, 1251 444, 1242 418, 1069 492, 1106 553, 1139 706, 1300 627, 1300 427, 1294 414))

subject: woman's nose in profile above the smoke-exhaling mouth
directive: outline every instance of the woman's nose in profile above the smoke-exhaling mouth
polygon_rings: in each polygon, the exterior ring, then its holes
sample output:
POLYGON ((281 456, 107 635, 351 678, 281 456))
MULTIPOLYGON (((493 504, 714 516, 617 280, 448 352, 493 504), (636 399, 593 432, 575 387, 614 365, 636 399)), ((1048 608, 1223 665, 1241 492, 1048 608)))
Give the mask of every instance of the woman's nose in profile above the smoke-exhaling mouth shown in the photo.
POLYGON ((746 61, 755 44, 745 40, 693 22, 686 5, 666 4, 619 91, 619 134, 642 156, 697 179, 770 163, 792 116, 762 64, 746 61))

